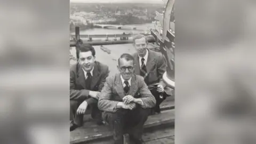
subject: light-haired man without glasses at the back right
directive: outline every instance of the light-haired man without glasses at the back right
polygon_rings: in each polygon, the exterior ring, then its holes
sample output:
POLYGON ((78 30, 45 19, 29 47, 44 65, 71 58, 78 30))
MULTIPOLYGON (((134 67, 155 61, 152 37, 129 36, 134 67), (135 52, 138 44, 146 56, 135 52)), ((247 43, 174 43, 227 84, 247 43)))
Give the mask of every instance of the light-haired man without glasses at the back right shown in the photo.
MULTIPOLYGON (((156 106, 151 110, 151 114, 161 113, 159 105, 166 99, 164 90, 166 85, 162 79, 166 71, 165 59, 161 53, 147 49, 147 39, 144 35, 135 36, 133 46, 137 51, 133 54, 135 74, 144 77, 145 83, 156 99, 156 106)), ((171 92, 168 89, 166 91, 171 92)))

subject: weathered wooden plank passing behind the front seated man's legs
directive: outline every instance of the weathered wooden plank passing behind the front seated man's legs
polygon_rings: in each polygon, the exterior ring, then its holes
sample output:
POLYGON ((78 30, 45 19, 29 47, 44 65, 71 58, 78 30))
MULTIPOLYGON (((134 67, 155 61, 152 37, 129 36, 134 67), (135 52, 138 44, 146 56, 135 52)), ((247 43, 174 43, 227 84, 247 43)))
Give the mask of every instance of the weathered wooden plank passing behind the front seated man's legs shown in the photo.
MULTIPOLYGON (((147 129, 153 126, 174 123, 174 117, 174 109, 165 110, 161 114, 149 116, 144 127, 147 129)), ((107 137, 111 137, 113 135, 112 133, 113 132, 110 131, 108 126, 79 127, 75 131, 70 132, 70 143, 82 143, 96 139, 106 139, 107 137)))

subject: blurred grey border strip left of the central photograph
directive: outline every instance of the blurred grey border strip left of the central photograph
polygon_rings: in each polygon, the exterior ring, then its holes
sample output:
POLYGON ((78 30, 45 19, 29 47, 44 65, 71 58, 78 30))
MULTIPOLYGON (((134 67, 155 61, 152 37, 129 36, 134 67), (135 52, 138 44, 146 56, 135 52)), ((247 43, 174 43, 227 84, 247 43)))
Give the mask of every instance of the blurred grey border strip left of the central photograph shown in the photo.
POLYGON ((69 1, 1 1, 0 21, 0 143, 69 143, 69 1))

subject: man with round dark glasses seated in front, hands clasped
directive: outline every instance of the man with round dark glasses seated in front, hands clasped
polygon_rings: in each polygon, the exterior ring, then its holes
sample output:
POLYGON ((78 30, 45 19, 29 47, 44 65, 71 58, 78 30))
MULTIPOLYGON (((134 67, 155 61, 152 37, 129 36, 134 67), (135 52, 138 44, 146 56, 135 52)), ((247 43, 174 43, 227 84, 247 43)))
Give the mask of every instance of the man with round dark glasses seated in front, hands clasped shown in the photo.
POLYGON ((143 125, 156 99, 148 90, 143 77, 133 74, 134 58, 122 54, 118 59, 118 70, 108 77, 99 96, 98 107, 103 110, 103 119, 114 129, 115 143, 123 143, 127 130, 131 140, 141 143, 143 125), (129 128, 129 129, 127 129, 129 128))

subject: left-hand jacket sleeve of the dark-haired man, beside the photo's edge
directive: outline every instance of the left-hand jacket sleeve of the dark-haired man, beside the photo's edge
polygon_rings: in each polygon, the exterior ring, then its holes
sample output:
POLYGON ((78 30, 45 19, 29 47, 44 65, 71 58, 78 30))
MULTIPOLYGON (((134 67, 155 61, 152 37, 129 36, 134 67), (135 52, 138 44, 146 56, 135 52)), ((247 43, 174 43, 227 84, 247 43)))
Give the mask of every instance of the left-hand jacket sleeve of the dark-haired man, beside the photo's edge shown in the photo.
POLYGON ((70 100, 86 100, 89 98, 89 90, 76 90, 75 71, 70 70, 70 100))

